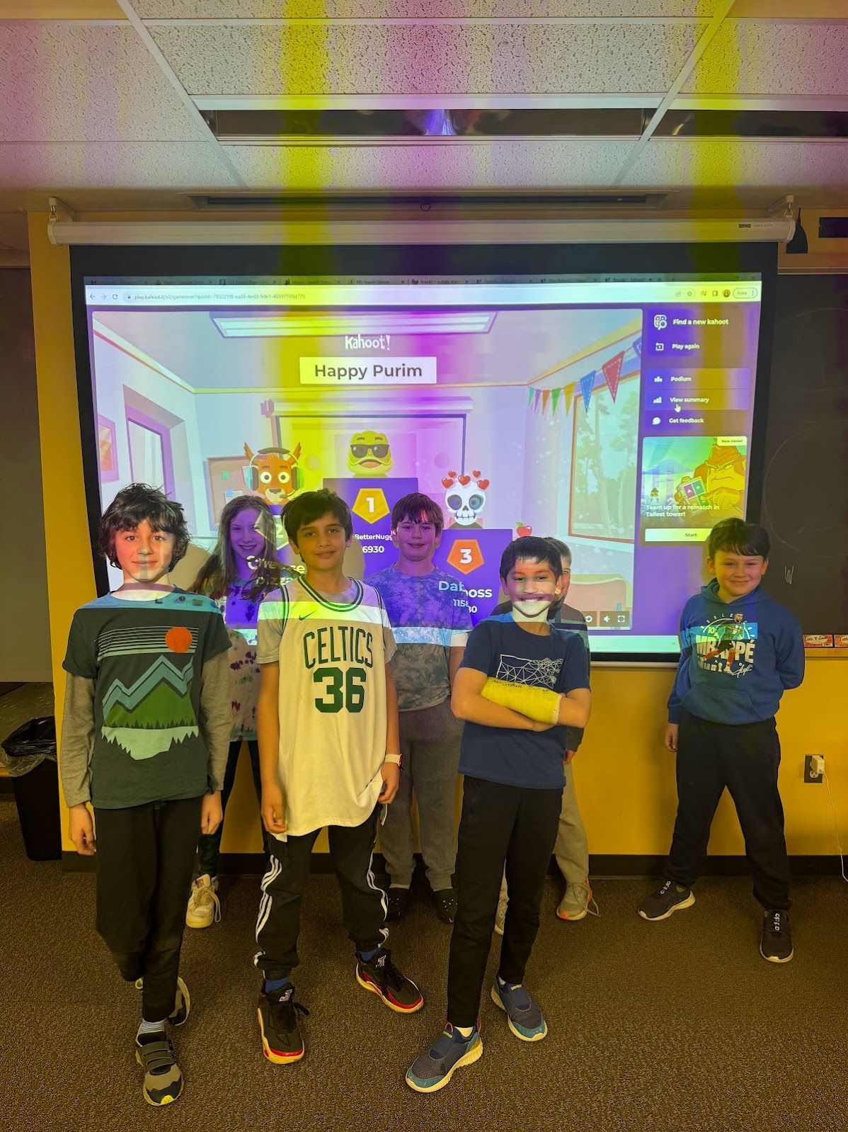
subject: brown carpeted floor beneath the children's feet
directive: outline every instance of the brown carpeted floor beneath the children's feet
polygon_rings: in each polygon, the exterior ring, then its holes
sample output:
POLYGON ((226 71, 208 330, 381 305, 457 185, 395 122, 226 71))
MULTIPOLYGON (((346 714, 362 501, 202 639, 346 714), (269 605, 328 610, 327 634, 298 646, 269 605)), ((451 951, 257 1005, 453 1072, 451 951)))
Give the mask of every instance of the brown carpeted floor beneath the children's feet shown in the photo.
POLYGON ((313 878, 296 971, 311 1011, 306 1056, 272 1066, 254 1009, 258 882, 226 880, 222 923, 187 932, 192 1011, 176 1031, 187 1086, 157 1112, 141 1098, 133 1060, 137 992, 94 929, 94 877, 28 861, 8 800, 0 875, 2 1132, 848 1129, 841 881, 796 885, 796 958, 782 967, 758 954, 745 880, 703 881, 694 908, 664 924, 635 915, 644 882, 598 882, 600 918, 571 925, 553 915, 552 882, 527 975, 548 1038, 518 1041, 486 987, 483 1060, 419 1096, 404 1072, 443 1024, 450 932, 430 906, 416 904, 391 934, 393 958, 426 1000, 400 1018, 357 986, 335 881, 313 878))

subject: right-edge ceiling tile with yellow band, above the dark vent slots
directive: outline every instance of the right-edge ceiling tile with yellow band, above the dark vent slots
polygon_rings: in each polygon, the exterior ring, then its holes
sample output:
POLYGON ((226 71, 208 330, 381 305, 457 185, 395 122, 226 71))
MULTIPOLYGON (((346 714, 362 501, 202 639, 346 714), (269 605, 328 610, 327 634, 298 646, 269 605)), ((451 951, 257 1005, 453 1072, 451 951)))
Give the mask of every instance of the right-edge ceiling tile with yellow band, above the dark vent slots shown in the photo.
MULTIPOLYGON (((848 15, 848 3, 845 11, 848 15)), ((684 91, 848 94, 848 24, 728 20, 684 91)))

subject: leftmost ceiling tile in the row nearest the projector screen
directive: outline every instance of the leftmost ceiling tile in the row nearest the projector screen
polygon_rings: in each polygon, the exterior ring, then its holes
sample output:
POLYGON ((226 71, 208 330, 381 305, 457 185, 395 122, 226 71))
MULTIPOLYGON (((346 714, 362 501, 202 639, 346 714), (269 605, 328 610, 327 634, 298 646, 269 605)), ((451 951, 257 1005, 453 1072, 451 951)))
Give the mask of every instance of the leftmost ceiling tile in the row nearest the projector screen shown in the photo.
POLYGON ((211 143, 0 144, 0 189, 233 188, 211 143))

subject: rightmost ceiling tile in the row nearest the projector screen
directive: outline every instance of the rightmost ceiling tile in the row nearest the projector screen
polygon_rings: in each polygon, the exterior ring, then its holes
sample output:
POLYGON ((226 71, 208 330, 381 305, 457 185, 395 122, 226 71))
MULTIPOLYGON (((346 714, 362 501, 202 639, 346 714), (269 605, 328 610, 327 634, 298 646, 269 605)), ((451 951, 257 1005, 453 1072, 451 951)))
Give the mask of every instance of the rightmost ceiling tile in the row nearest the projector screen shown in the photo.
POLYGON ((777 195, 848 185, 848 146, 834 142, 648 143, 625 178, 628 186, 773 186, 777 195))

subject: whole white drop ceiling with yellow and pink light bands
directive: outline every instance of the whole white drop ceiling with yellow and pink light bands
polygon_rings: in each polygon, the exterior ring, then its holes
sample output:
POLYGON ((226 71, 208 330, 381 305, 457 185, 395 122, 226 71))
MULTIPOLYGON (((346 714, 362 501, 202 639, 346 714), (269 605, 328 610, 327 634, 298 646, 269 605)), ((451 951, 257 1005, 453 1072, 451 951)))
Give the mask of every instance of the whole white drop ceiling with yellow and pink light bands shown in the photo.
MULTIPOLYGON (((0 213, 197 195, 656 190, 848 206, 845 138, 657 136, 680 109, 848 111, 848 0, 0 0, 0 213), (222 144, 226 109, 642 106, 641 137, 222 144)), ((2 243, 25 239, 0 218, 2 243)))

